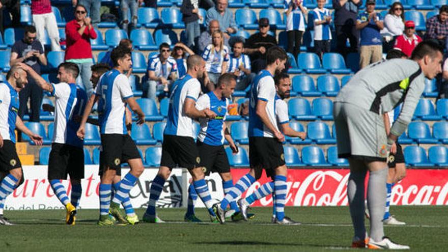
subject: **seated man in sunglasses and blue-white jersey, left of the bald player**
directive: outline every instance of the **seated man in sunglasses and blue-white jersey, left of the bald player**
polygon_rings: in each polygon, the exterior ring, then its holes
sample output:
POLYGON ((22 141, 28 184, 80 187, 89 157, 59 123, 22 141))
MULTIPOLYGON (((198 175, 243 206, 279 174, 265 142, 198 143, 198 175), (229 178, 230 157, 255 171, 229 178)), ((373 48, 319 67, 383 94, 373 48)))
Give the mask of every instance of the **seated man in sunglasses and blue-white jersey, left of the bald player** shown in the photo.
POLYGON ((148 71, 143 79, 146 83, 144 96, 156 100, 157 91, 168 92, 170 84, 177 79, 176 60, 170 57, 170 45, 161 43, 159 54, 148 59, 148 71))

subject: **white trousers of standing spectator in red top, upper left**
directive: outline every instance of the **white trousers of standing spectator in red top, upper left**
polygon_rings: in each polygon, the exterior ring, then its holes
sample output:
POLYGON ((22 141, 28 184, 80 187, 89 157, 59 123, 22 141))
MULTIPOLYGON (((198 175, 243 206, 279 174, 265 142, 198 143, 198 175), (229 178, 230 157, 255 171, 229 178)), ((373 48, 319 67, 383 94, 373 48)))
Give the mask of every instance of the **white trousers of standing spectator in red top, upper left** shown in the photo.
MULTIPOLYGON (((48 32, 48 37, 51 42, 52 51, 61 51, 61 44, 59 44, 59 31, 58 23, 54 13, 35 14, 33 15, 33 23, 36 26, 37 39, 41 42, 42 46, 45 40, 45 30, 48 32)), ((43 48, 45 51, 45 48, 43 48)))

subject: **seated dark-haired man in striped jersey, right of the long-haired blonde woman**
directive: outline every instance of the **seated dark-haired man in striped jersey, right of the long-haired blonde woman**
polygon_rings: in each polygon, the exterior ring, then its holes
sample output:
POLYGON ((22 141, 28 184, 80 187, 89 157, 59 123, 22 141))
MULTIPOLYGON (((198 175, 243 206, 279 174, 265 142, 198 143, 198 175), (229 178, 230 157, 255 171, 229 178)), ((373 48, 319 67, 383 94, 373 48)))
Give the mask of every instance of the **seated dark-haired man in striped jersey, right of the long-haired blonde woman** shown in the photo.
POLYGON ((255 73, 250 72, 250 60, 249 57, 243 53, 244 43, 242 41, 236 41, 233 44, 233 53, 230 54, 229 60, 229 73, 233 73, 236 76, 235 90, 244 90, 250 84, 255 73))

